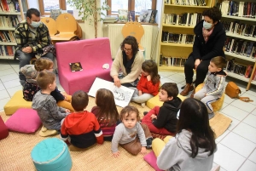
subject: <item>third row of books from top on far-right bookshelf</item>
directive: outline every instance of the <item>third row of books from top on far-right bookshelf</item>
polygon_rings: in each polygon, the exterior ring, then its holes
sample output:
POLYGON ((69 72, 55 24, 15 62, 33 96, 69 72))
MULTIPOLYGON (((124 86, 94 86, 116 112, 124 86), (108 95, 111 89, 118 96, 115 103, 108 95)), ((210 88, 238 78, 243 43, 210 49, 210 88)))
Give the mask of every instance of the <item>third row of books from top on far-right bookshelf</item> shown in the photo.
POLYGON ((224 49, 227 52, 240 54, 249 58, 256 57, 256 43, 245 41, 243 39, 227 37, 224 49))

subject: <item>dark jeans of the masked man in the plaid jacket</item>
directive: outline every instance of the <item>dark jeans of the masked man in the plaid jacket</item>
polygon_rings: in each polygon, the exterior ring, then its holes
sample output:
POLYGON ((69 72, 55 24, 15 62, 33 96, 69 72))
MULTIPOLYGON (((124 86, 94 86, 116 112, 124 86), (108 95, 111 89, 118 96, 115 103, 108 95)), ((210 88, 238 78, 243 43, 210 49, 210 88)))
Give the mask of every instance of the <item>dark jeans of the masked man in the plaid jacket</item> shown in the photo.
MULTIPOLYGON (((20 68, 23 66, 29 65, 30 60, 32 59, 32 57, 35 56, 34 53, 27 54, 27 53, 22 52, 21 50, 17 50, 15 53, 20 60, 20 68)), ((44 54, 42 57, 49 58, 50 60, 53 61, 55 56, 54 56, 54 54, 49 52, 47 54, 44 54)), ((26 77, 20 71, 19 71, 19 77, 20 77, 20 81, 26 82, 26 77)))

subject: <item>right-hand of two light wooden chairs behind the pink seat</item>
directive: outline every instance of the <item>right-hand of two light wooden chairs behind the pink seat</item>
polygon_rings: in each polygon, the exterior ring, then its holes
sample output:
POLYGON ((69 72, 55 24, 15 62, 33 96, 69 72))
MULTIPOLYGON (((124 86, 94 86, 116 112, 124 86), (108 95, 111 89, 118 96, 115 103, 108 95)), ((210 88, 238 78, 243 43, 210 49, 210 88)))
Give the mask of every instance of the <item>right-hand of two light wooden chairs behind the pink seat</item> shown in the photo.
POLYGON ((72 14, 60 14, 55 22, 58 34, 50 37, 54 43, 79 39, 79 37, 77 37, 75 34, 75 31, 77 31, 78 28, 78 24, 72 14))

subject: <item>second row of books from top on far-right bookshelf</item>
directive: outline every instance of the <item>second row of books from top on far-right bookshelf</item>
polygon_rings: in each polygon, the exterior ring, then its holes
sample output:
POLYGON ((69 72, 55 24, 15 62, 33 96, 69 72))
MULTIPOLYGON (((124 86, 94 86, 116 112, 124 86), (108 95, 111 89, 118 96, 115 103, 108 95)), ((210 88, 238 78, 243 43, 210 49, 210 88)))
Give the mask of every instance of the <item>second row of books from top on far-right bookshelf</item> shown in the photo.
POLYGON ((255 26, 247 25, 240 23, 240 20, 236 21, 221 21, 224 30, 226 32, 230 32, 236 35, 245 36, 245 37, 256 37, 256 29, 255 26))

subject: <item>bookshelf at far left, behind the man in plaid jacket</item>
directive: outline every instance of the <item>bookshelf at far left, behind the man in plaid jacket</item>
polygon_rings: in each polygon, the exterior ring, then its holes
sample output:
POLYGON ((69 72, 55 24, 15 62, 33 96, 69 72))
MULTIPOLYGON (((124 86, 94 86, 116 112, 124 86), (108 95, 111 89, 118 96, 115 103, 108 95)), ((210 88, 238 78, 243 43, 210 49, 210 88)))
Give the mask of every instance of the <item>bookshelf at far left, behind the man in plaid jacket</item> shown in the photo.
POLYGON ((14 60, 15 26, 25 19, 23 9, 27 9, 26 0, 11 2, 8 4, 7 0, 2 0, 0 4, 0 60, 14 60))

